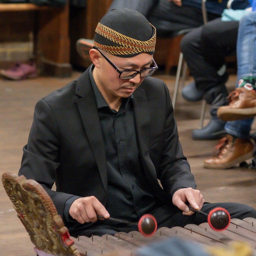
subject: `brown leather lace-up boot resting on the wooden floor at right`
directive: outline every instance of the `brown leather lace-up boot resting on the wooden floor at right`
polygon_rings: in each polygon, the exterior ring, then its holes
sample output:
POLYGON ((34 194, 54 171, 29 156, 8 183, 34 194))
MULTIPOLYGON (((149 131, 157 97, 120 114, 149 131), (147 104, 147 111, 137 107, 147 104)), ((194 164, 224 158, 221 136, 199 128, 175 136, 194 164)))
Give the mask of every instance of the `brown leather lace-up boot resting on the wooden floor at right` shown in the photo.
POLYGON ((253 144, 250 140, 234 139, 231 135, 219 140, 215 146, 216 156, 204 160, 204 167, 210 169, 227 169, 252 157, 253 144))

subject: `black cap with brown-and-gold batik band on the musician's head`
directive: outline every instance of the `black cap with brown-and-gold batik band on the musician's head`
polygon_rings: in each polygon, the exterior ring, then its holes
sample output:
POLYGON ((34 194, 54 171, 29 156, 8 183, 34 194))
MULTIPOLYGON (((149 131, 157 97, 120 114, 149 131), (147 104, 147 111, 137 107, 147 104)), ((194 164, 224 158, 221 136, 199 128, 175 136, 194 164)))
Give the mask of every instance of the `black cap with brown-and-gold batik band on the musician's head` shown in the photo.
POLYGON ((153 54, 156 29, 140 13, 131 9, 114 9, 98 23, 94 46, 119 57, 140 53, 153 54))

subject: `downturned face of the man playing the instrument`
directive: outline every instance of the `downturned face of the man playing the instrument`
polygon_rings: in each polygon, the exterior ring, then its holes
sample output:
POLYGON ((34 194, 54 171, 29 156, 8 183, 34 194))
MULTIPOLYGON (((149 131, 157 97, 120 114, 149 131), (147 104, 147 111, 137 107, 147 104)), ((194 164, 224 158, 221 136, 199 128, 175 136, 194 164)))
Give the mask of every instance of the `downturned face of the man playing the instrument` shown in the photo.
MULTIPOLYGON (((121 58, 111 55, 105 51, 102 53, 118 67, 120 71, 141 70, 150 67, 153 56, 148 53, 140 53, 130 58, 121 58)), ((119 73, 100 55, 99 67, 97 70, 96 83, 103 95, 114 98, 127 98, 137 89, 144 78, 137 74, 134 78, 120 79, 119 73)))

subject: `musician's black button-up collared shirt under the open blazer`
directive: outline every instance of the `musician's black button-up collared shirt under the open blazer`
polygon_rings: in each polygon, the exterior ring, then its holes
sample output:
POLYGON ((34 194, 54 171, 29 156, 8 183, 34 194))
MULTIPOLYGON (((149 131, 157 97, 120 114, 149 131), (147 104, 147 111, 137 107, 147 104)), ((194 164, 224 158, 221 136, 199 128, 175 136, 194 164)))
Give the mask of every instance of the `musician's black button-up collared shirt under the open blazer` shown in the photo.
MULTIPOLYGON (((104 139, 108 170, 106 209, 111 217, 138 221, 143 214, 159 206, 158 197, 143 175, 132 110, 133 96, 124 98, 118 110, 113 110, 102 97, 93 75, 89 75, 94 90, 104 139)), ((107 225, 116 225, 105 221, 107 225)))

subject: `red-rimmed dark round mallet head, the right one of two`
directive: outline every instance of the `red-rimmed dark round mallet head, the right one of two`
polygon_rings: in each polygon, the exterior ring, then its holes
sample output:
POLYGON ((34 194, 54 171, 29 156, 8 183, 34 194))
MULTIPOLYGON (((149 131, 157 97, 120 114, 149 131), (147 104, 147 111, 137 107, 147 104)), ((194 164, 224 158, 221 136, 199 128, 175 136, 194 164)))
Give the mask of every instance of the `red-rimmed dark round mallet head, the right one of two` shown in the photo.
POLYGON ((208 214, 208 224, 213 230, 225 230, 230 224, 230 215, 224 208, 217 207, 208 214))

